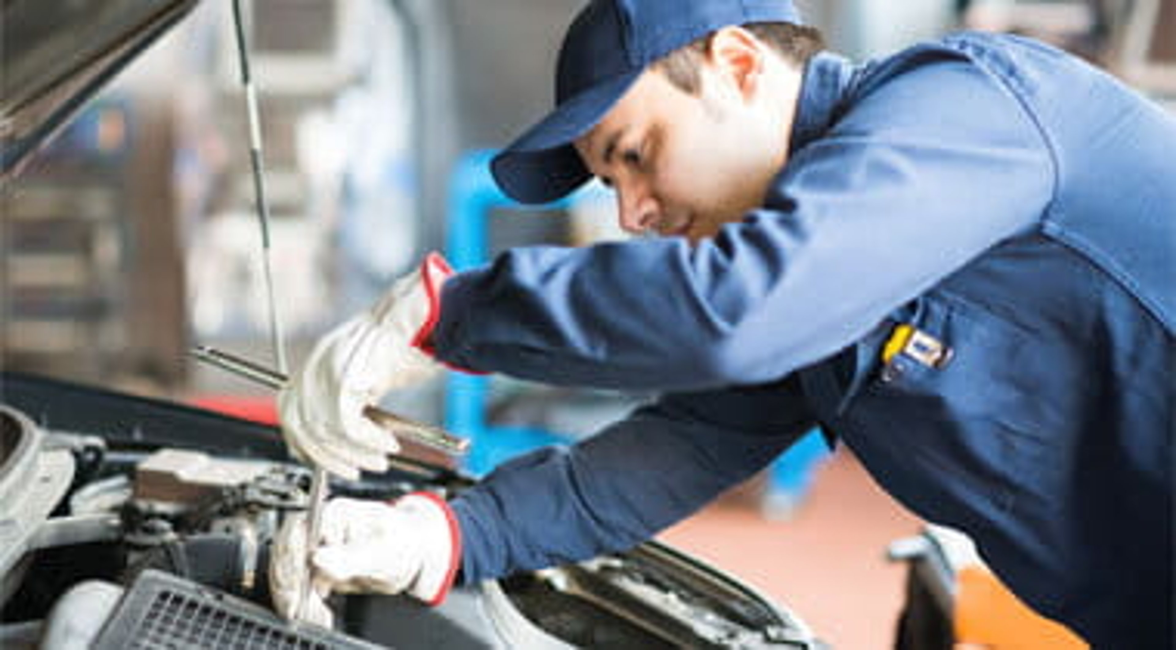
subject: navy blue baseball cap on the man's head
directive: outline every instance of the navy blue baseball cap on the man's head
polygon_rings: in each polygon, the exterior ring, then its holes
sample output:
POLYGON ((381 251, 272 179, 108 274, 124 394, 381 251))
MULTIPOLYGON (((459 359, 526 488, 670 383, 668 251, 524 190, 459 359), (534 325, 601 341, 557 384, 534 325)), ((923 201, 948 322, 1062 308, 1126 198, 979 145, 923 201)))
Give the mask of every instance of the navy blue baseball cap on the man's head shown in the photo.
POLYGON ((790 0, 593 0, 568 27, 555 109, 490 161, 502 192, 554 201, 592 174, 572 142, 592 130, 647 66, 707 34, 749 22, 800 22, 790 0))

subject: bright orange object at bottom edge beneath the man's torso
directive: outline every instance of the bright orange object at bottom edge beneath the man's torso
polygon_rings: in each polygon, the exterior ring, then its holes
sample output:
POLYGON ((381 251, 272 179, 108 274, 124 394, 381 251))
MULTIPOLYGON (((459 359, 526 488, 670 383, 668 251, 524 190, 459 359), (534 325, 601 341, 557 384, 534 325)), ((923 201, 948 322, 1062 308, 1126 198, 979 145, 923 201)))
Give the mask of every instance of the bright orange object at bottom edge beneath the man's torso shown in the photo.
POLYGON ((1064 625, 1022 603, 988 569, 956 571, 954 626, 956 650, 1085 650, 1064 625))

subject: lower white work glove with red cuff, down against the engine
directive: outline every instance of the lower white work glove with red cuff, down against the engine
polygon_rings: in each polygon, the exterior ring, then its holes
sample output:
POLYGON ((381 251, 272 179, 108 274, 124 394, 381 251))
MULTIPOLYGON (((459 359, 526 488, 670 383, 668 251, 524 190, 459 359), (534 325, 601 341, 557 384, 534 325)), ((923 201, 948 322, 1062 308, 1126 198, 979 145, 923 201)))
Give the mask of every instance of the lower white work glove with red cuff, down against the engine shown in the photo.
POLYGON ((306 567, 306 517, 287 520, 274 541, 269 589, 286 618, 329 626, 323 599, 342 594, 400 594, 441 603, 461 559, 461 532, 449 505, 439 496, 415 492, 395 503, 334 498, 322 510, 321 538, 306 567), (299 595, 310 581, 310 605, 300 611, 299 595))

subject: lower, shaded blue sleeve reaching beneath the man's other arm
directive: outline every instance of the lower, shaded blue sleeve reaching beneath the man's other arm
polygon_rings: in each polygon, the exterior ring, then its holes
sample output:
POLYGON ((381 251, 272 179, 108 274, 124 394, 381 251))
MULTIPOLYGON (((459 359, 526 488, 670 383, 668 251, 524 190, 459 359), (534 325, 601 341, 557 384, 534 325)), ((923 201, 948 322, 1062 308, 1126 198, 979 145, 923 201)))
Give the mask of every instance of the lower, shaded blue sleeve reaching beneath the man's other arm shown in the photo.
POLYGON ((453 502, 463 581, 628 549, 763 468, 811 427, 790 378, 668 396, 570 448, 505 463, 453 502))

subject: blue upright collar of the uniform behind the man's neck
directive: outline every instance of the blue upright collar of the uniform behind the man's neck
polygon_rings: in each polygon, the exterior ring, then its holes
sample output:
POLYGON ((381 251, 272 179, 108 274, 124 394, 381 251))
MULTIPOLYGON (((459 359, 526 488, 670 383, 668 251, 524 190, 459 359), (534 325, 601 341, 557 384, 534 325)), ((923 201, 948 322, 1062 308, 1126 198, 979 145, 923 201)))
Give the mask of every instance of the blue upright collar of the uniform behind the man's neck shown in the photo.
POLYGON ((843 56, 821 52, 809 59, 796 101, 790 153, 829 130, 840 116, 853 75, 854 66, 843 56))

